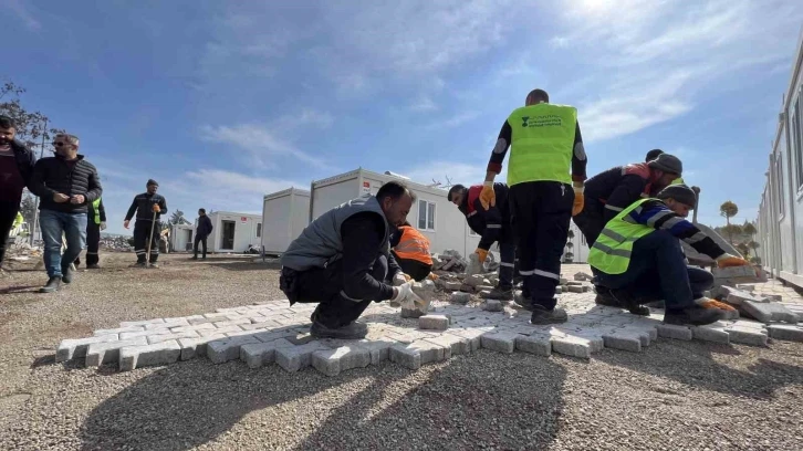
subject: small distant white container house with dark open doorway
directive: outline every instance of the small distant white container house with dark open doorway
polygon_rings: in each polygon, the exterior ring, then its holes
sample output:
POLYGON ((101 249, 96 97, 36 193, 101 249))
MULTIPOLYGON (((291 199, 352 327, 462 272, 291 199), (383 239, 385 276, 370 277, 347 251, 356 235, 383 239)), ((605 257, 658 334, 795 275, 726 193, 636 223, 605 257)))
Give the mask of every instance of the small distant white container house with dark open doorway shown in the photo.
POLYGON ((259 247, 262 240, 262 216, 215 211, 209 213, 212 234, 207 242, 209 252, 246 252, 249 244, 259 247))

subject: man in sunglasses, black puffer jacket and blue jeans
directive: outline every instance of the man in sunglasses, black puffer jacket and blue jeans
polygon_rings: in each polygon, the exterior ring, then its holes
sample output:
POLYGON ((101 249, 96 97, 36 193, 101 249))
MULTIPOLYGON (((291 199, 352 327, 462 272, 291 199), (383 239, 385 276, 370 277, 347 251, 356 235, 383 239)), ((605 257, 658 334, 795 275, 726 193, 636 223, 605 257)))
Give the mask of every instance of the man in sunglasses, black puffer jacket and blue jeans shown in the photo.
POLYGON ((71 283, 70 264, 86 244, 88 204, 101 198, 103 189, 97 169, 79 155, 79 138, 60 133, 53 139, 55 156, 42 158, 33 167, 30 190, 39 196, 39 227, 44 241, 48 283, 42 293, 58 291, 71 283), (61 253, 62 235, 66 250, 61 253))

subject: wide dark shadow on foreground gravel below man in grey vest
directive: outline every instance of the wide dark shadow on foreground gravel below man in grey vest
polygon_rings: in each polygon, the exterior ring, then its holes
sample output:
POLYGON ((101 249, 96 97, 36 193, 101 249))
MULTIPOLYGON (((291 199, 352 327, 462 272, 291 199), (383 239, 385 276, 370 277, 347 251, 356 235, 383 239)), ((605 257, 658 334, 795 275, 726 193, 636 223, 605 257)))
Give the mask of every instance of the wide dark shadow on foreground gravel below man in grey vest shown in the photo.
POLYGON ((479 352, 431 368, 424 380, 390 363, 330 378, 314 369, 182 361, 103 401, 79 437, 85 451, 184 451, 227 436, 248 416, 248 426, 234 430, 259 438, 260 449, 286 448, 294 441, 288 431, 315 418, 321 423, 309 436, 296 432, 298 449, 541 449, 557 434, 563 410, 565 369, 552 360, 479 352), (355 381, 367 388, 333 390, 355 381), (260 412, 291 401, 301 406, 260 412), (337 407, 328 410, 326 402, 337 407))

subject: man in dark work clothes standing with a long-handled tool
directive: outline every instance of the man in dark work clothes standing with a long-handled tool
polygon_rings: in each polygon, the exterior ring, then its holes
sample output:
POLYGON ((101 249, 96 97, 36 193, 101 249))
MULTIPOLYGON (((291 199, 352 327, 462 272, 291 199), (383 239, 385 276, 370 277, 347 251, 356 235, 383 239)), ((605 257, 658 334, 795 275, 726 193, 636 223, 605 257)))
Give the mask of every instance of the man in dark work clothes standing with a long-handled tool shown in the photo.
POLYGON ((159 258, 159 232, 155 227, 159 222, 159 217, 167 212, 167 201, 164 197, 156 193, 159 183, 150 179, 146 185, 146 191, 134 198, 128 213, 125 216, 123 227, 128 229, 134 213, 136 221, 134 222, 134 251, 137 254, 137 262, 134 268, 148 268, 147 245, 150 240, 150 268, 159 268, 156 260, 159 258))

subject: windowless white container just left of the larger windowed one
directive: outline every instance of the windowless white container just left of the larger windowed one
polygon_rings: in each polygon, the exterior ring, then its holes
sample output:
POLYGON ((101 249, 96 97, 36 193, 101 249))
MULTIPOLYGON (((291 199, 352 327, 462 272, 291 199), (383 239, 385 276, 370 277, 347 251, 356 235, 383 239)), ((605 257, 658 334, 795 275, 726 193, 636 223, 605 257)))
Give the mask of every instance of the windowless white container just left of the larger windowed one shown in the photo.
POLYGON ((281 254, 301 234, 310 219, 310 191, 290 188, 264 197, 262 249, 281 254))

